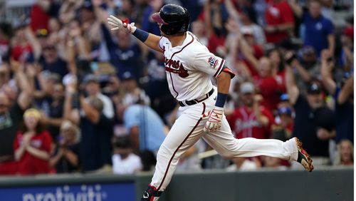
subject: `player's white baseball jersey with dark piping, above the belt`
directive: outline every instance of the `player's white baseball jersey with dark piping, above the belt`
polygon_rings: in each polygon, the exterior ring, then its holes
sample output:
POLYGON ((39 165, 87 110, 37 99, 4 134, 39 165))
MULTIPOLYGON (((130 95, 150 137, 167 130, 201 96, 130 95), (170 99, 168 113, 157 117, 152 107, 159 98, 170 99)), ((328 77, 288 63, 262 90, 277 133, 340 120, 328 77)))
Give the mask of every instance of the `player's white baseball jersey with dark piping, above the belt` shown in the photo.
POLYGON ((168 38, 162 36, 159 47, 164 51, 169 90, 179 101, 208 93, 212 88, 211 76, 219 76, 224 66, 225 60, 210 53, 189 31, 181 46, 172 47, 168 38))

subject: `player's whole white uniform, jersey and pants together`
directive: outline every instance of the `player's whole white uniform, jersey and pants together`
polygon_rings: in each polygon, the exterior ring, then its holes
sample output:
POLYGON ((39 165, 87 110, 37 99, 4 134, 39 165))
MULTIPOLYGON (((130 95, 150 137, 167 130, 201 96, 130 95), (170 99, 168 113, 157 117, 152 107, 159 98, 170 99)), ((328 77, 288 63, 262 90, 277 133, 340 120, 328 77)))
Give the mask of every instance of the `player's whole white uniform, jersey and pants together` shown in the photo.
MULTIPOLYGON (((164 51, 165 67, 169 89, 179 101, 200 99, 212 86, 211 76, 217 77, 224 66, 224 59, 214 56, 201 45, 190 32, 181 46, 172 48, 165 37, 159 40, 164 51)), ((298 148, 294 138, 286 142, 280 140, 259 140, 255 138, 236 139, 225 115, 221 128, 214 132, 204 132, 208 117, 202 115, 212 110, 217 91, 204 101, 179 108, 179 118, 158 150, 155 174, 150 185, 157 191, 164 191, 169 184, 178 160, 197 140, 203 138, 224 158, 254 157, 268 155, 286 160, 298 158, 298 148)), ((155 197, 158 200, 159 197, 155 197)))

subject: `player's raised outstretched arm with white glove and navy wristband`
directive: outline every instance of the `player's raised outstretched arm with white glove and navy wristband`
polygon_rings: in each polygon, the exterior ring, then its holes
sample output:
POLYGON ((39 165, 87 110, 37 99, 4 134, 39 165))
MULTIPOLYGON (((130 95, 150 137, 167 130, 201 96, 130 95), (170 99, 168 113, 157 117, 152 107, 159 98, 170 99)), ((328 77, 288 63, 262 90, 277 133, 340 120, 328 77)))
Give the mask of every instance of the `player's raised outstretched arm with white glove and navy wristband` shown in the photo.
POLYGON ((132 33, 132 35, 145 43, 146 46, 149 46, 156 51, 163 52, 163 50, 159 48, 158 44, 160 37, 156 36, 155 34, 148 33, 147 31, 143 31, 142 29, 138 29, 134 22, 127 24, 125 21, 117 19, 115 16, 109 16, 108 24, 112 26, 111 31, 122 30, 126 31, 127 33, 132 33))

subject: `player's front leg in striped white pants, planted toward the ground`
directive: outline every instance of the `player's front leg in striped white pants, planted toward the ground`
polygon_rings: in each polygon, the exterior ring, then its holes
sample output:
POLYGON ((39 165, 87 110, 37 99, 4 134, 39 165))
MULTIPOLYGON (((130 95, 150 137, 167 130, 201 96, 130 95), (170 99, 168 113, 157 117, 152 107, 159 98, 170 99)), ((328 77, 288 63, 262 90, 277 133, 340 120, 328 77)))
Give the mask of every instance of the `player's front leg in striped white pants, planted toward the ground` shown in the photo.
POLYGON ((158 200, 159 195, 169 184, 178 160, 201 137, 204 124, 201 122, 203 104, 191 108, 176 120, 157 153, 157 164, 152 182, 142 200, 158 200))

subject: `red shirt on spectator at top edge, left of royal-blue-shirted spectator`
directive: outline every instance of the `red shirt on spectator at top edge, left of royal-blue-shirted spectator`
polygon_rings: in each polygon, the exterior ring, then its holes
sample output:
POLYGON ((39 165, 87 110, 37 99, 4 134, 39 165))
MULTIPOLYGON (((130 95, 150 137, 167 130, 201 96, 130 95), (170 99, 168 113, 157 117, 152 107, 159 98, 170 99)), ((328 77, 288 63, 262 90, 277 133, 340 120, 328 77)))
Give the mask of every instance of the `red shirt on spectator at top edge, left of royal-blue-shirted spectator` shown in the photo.
MULTIPOLYGON (((294 24, 293 11, 288 2, 282 0, 275 3, 273 0, 270 0, 266 9, 266 23, 271 26, 278 24, 294 24)), ((288 38, 287 31, 266 33, 266 41, 268 43, 278 43, 286 38, 288 38)))

